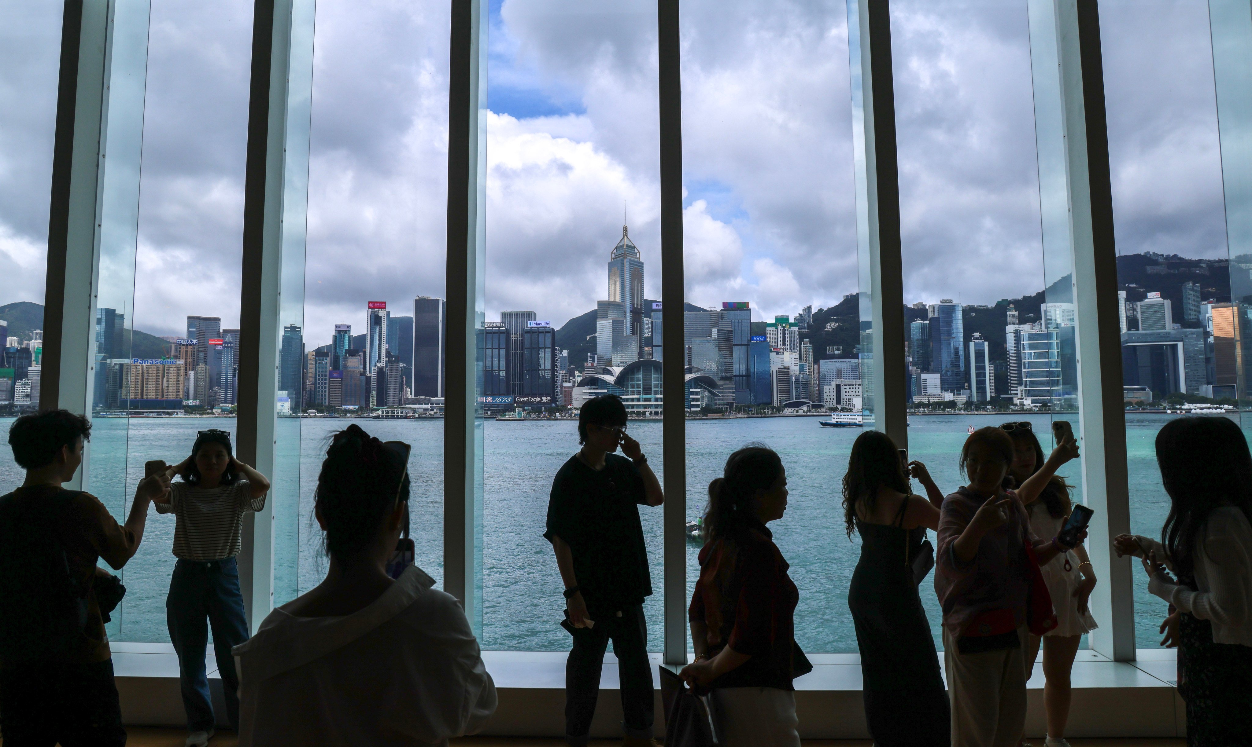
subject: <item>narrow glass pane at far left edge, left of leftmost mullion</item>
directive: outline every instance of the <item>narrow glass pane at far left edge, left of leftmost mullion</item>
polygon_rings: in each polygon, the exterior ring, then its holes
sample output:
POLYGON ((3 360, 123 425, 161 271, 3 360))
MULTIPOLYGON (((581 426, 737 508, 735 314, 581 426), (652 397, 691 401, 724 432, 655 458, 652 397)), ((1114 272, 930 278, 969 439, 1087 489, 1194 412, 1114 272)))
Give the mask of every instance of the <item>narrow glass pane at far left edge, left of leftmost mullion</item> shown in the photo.
MULTIPOLYGON (((48 267, 48 198, 56 129, 61 6, 19 4, 6 9, 0 28, 0 428, 39 407, 39 362, 44 328, 44 273, 48 267), (11 348, 11 349, 10 349, 11 348), (21 382, 19 384, 19 382, 21 382), (18 394, 19 397, 15 397, 18 394), (15 402, 15 399, 18 402, 15 402)), ((13 452, 0 449, 5 492, 25 472, 13 452)))

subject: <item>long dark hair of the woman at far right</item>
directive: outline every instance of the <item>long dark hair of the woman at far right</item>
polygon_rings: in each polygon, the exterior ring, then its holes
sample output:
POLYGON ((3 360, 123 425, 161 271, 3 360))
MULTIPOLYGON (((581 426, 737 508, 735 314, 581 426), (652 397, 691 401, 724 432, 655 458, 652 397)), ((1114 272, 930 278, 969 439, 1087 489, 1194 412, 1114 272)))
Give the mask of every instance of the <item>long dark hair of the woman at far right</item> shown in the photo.
POLYGON ((1157 464, 1169 494, 1169 516, 1161 543, 1178 579, 1194 588, 1196 548, 1214 508, 1236 506, 1252 522, 1252 454, 1248 442, 1227 418, 1169 420, 1157 433, 1157 464))

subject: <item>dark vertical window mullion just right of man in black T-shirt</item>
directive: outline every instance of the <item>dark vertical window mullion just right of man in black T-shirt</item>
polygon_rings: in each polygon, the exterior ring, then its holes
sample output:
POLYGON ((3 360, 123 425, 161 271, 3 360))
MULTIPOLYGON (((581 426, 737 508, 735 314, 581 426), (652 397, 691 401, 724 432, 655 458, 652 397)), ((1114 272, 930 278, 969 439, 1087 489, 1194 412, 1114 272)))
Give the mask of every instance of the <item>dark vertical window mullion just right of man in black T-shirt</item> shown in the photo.
POLYGON ((684 369, 682 269, 682 80, 679 0, 657 0, 657 58, 661 134, 661 309, 662 332, 671 340, 662 353, 662 509, 665 663, 687 661, 687 395, 684 369), (672 340, 677 340, 675 344, 672 340))

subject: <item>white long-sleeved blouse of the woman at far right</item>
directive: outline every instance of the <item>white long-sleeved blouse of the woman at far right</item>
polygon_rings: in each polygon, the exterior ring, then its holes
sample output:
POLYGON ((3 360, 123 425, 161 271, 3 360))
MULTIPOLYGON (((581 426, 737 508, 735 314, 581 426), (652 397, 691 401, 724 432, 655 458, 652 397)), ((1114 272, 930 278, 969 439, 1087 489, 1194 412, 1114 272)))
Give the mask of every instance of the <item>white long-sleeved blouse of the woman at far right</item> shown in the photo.
MULTIPOLYGON (((1148 582, 1148 591, 1209 621, 1214 643, 1252 646, 1252 524, 1237 507, 1223 506, 1213 509, 1202 532, 1194 562, 1198 591, 1158 576, 1148 582)), ((1139 542, 1173 567, 1159 542, 1146 537, 1139 542)))

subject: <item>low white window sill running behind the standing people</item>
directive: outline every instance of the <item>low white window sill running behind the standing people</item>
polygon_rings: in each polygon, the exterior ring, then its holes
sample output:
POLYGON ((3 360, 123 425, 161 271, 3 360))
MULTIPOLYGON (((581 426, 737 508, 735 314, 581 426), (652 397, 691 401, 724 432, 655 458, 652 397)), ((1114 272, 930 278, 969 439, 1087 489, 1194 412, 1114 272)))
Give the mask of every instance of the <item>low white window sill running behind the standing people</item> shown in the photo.
MULTIPOLYGON (((180 726, 184 722, 178 687, 178 657, 168 643, 111 643, 121 713, 125 723, 180 726)), ((654 664, 661 654, 650 654, 654 664)), ((565 659, 562 652, 486 651, 483 661, 500 691, 500 707, 483 733, 508 736, 561 736, 565 711, 565 659)), ((813 672, 796 679, 796 711, 805 738, 866 738, 860 698, 860 656, 809 654, 813 672)), ((1114 662, 1093 651, 1079 651, 1074 662, 1074 699, 1069 736, 1074 737, 1181 737, 1186 708, 1174 688, 1174 652, 1141 649, 1136 662, 1114 662)), ((940 654, 940 671, 943 669, 940 654)), ((207 657, 214 709, 225 713, 217 659, 207 657)), ((617 689, 617 663, 605 657, 600 687, 617 689)), ((1043 669, 1035 663, 1028 684, 1027 734, 1042 734, 1043 669)), ((657 723, 661 703, 657 696, 657 723)), ((592 734, 620 733, 621 702, 606 692, 592 724, 592 734)), ((660 726, 659 726, 660 728, 660 726)))

